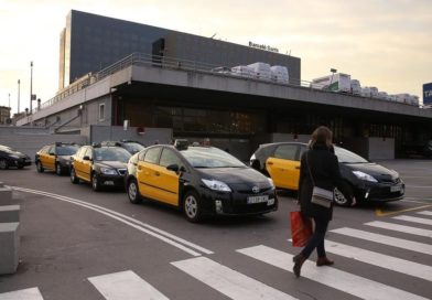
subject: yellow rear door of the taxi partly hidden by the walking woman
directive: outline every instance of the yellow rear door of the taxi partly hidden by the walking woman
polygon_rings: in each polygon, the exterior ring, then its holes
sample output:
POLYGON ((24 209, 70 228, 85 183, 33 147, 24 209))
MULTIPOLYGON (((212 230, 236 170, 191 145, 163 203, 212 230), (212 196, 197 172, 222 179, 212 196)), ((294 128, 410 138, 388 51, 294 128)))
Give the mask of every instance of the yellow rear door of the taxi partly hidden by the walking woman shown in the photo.
POLYGON ((299 144, 285 143, 274 149, 266 161, 266 169, 277 188, 299 190, 299 144))

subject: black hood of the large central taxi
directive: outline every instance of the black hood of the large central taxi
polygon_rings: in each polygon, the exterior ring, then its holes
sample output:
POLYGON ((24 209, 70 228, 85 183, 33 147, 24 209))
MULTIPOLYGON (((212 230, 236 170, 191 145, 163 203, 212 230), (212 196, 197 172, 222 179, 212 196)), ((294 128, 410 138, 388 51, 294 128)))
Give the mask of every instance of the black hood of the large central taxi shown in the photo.
POLYGON ((251 168, 210 168, 196 169, 208 179, 223 181, 227 184, 236 183, 268 183, 269 180, 251 168))

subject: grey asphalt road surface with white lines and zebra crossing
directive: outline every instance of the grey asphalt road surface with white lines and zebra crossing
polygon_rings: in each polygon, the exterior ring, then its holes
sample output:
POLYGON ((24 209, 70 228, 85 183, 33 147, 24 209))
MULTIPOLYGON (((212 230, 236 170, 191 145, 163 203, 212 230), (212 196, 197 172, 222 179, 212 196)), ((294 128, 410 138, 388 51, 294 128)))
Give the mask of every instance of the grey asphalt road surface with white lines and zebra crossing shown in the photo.
POLYGON ((291 193, 264 216, 192 224, 164 205, 133 205, 123 191, 96 193, 34 167, 0 171, 21 205, 20 264, 0 276, 0 300, 431 299, 432 161, 380 163, 400 172, 406 199, 336 207, 326 239, 334 267, 316 268, 313 254, 300 279, 291 193), (35 298, 18 298, 22 290, 35 298))

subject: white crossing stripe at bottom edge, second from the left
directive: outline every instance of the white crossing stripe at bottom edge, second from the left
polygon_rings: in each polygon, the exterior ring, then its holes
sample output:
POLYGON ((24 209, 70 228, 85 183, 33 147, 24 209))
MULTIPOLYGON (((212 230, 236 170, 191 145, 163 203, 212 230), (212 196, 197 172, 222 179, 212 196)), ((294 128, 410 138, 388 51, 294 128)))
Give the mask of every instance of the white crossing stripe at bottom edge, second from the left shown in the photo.
POLYGON ((169 300, 133 271, 107 274, 88 278, 107 300, 169 300))

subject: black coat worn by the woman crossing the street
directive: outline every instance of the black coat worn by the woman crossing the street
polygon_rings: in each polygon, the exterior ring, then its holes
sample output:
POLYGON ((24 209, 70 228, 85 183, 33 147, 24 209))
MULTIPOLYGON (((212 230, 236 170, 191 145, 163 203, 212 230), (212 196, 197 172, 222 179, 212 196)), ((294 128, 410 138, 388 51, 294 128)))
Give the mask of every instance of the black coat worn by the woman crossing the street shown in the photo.
MULTIPOLYGON (((327 208, 311 202, 313 184, 309 169, 316 186, 330 191, 337 186, 345 194, 346 183, 341 176, 339 163, 333 149, 328 149, 322 143, 315 143, 313 149, 305 151, 301 158, 299 181, 299 203, 302 213, 309 217, 332 219, 333 204, 327 208)), ((352 197, 353 195, 346 196, 352 197)))

